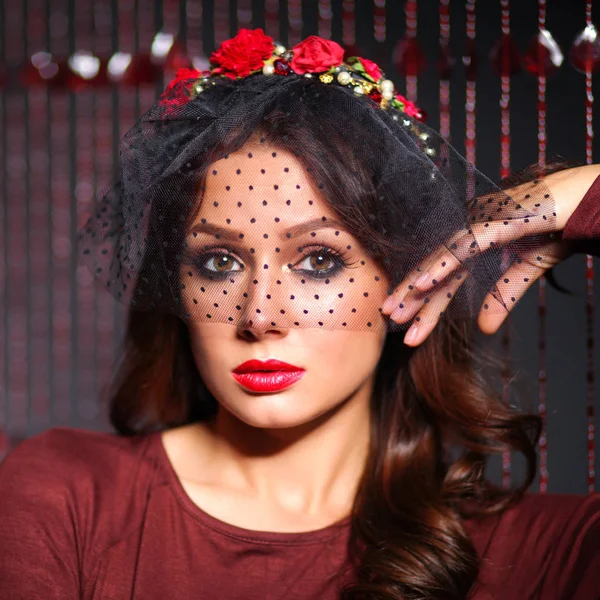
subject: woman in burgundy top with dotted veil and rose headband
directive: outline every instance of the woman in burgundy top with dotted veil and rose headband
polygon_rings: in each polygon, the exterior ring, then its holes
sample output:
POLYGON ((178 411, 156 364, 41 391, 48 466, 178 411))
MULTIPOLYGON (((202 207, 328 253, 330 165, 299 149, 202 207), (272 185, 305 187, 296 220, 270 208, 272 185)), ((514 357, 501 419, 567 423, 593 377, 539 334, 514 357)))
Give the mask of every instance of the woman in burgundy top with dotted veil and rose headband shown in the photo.
POLYGON ((600 169, 502 191, 316 36, 241 30, 212 62, 125 136, 81 232, 130 306, 118 435, 4 461, 3 597, 600 597, 600 497, 526 493, 539 417, 473 335, 597 252, 600 169), (505 450, 512 490, 485 479, 505 450))

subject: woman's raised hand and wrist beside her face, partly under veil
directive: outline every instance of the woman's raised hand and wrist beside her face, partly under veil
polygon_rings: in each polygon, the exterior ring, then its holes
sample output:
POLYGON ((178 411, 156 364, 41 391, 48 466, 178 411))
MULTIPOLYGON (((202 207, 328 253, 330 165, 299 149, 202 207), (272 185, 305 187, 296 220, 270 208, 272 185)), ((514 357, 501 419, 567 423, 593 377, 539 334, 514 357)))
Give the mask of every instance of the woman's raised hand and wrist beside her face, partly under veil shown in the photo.
POLYGON ((490 247, 507 245, 524 236, 540 236, 545 241, 521 253, 521 260, 513 263, 496 284, 496 293, 499 292, 508 301, 501 304, 490 292, 482 304, 477 321, 479 328, 486 334, 495 333, 531 285, 548 269, 571 256, 568 245, 556 234, 564 229, 598 175, 600 165, 587 165, 559 171, 541 179, 540 183, 545 184, 554 200, 551 221, 539 213, 542 208, 539 208, 536 197, 527 194, 532 182, 503 190, 500 194, 503 197, 531 198, 520 200, 520 204, 533 217, 473 224, 468 237, 464 233, 457 235, 429 255, 419 270, 409 273, 383 304, 383 314, 389 314, 390 319, 397 323, 407 322, 414 317, 415 322, 407 331, 404 342, 409 346, 418 346, 435 328, 440 312, 446 309, 469 276, 456 258, 456 252, 449 248, 456 248, 457 245, 460 248, 461 241, 467 243, 474 237, 477 246, 485 252, 490 247), (423 303, 422 292, 427 292, 427 303, 423 303))

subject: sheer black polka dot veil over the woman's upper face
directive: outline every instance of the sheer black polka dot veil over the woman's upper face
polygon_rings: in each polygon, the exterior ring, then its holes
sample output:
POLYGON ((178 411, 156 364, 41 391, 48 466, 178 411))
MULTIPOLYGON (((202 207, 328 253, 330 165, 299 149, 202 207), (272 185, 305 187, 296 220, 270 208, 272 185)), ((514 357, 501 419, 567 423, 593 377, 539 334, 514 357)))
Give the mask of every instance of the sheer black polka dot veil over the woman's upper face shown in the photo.
POLYGON ((505 312, 526 279, 511 266, 535 268, 556 220, 543 181, 509 195, 420 121, 300 75, 158 103, 120 161, 79 232, 81 262, 128 306, 183 320, 404 329, 432 297, 409 276, 436 257, 445 300, 426 318, 475 319, 486 298, 505 312), (518 239, 499 243, 508 224, 518 239), (381 312, 399 284, 401 325, 381 312))

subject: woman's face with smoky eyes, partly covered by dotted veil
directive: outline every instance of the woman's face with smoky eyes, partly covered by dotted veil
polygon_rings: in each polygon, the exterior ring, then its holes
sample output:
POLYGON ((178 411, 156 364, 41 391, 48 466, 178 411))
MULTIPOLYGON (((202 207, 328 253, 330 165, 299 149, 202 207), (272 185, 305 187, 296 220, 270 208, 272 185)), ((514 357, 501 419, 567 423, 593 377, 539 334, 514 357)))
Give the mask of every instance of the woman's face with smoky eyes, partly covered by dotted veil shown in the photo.
POLYGON ((211 165, 186 241, 192 351, 221 409, 253 427, 289 428, 370 395, 387 278, 294 154, 253 142, 211 165), (249 389, 244 377, 262 376, 234 370, 251 359, 302 376, 285 389, 249 389))

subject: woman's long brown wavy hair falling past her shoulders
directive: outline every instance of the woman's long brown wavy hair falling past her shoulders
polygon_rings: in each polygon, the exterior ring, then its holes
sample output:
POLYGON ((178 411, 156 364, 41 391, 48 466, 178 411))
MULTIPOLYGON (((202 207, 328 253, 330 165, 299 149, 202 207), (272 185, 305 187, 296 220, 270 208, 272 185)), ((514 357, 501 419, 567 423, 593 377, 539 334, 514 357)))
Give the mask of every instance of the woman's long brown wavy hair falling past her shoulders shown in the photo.
MULTIPOLYGON (((272 134, 269 123, 256 133, 272 134)), ((279 121, 278 133, 282 126, 279 121)), ((328 150, 327 136, 311 135, 293 122, 285 135, 304 150, 302 160, 328 150)), ((326 197, 334 194, 338 204, 371 197, 370 175, 350 154, 334 154, 337 172, 327 173, 326 197)), ((315 161, 312 168, 318 169, 315 161)), ((539 175, 530 169, 527 177, 509 183, 539 175)), ((372 229, 365 234, 369 202, 354 201, 342 218, 361 241, 367 235, 374 247, 385 245, 372 229)), ((472 325, 443 321, 416 348, 404 345, 403 332, 387 334, 371 399, 370 451, 351 516, 355 577, 342 600, 463 600, 477 579, 479 558, 462 521, 502 512, 535 477, 542 421, 503 400, 486 375, 502 363, 474 351, 475 333, 472 325), (525 478, 512 489, 486 479, 490 458, 504 451, 519 452, 526 461, 525 478)), ((110 421, 117 432, 169 429, 209 420, 217 410, 185 323, 172 314, 130 309, 110 392, 110 421)))

